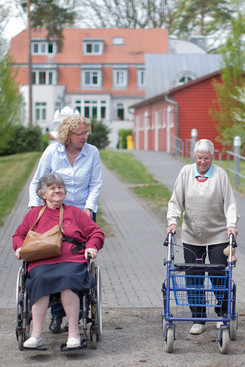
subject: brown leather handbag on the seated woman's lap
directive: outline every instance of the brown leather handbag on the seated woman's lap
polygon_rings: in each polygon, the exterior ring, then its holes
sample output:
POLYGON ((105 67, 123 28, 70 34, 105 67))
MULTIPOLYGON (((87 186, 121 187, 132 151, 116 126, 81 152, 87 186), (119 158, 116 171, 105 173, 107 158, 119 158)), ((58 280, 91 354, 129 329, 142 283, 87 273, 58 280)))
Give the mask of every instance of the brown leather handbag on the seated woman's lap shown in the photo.
POLYGON ((45 233, 37 233, 33 231, 34 226, 41 218, 45 209, 46 205, 41 208, 36 222, 28 231, 26 238, 23 242, 20 250, 20 256, 24 261, 47 259, 49 257, 58 256, 61 253, 61 246, 63 242, 63 205, 60 208, 59 224, 49 229, 45 233))

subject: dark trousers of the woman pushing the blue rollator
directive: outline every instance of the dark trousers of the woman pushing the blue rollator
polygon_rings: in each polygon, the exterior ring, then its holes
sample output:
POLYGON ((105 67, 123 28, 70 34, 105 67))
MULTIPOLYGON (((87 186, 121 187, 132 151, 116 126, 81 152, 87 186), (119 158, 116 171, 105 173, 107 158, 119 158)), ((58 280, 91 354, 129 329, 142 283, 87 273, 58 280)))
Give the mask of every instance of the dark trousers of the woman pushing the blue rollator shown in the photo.
MULTIPOLYGON (((203 263, 205 264, 205 259, 208 254, 209 262, 210 264, 224 264, 227 266, 227 256, 223 254, 223 250, 229 245, 229 243, 220 243, 217 245, 211 245, 211 246, 193 246, 186 243, 183 243, 184 248, 184 259, 186 263, 203 263)), ((210 276, 210 280, 212 282, 213 287, 220 286, 222 279, 218 279, 217 272, 210 270, 208 272, 210 276), (213 275, 213 277, 212 277, 213 275)), ((195 286, 198 286, 202 289, 202 286, 204 284, 204 275, 205 272, 199 269, 190 269, 186 271, 186 285, 192 286, 194 288, 195 286), (191 277, 192 275, 198 275, 198 277, 191 277), (203 275, 203 277, 202 277, 203 275), (197 284, 198 279, 198 284, 197 284)), ((227 287, 227 284, 226 284, 227 287)), ((190 306, 190 310, 192 313, 192 317, 201 317, 206 318, 206 307, 203 306, 205 304, 205 292, 202 292, 201 290, 195 291, 188 291, 188 301, 190 304, 198 304, 200 303, 202 306, 190 306)), ((227 298, 228 294, 225 292, 224 299, 222 302, 222 305, 220 304, 221 300, 219 299, 217 301, 217 306, 215 307, 215 312, 219 317, 222 317, 224 314, 227 313, 227 298)), ((205 321, 200 321, 200 324, 205 324, 205 321)))

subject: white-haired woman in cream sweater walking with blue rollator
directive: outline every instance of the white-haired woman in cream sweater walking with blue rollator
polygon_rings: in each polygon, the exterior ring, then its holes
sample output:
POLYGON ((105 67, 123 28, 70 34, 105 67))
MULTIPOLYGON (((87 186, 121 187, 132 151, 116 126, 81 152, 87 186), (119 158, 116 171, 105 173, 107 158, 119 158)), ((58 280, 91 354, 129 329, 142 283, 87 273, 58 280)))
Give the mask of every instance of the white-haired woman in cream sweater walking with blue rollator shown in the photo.
MULTIPOLYGON (((181 241, 185 262, 205 263, 208 253, 210 264, 226 266, 223 251, 229 244, 229 235, 236 238, 239 219, 234 193, 226 172, 213 163, 214 146, 210 140, 201 139, 195 144, 194 157, 195 163, 185 165, 175 182, 168 203, 166 232, 176 232, 183 209, 181 241)), ((188 296, 193 297, 193 293, 188 296)), ((190 308, 193 318, 206 317, 204 306, 190 308)), ((219 317, 224 316, 227 300, 215 311, 219 317)), ((216 327, 220 325, 217 322, 216 327)), ((194 322, 190 333, 200 334, 204 329, 205 321, 194 322)))

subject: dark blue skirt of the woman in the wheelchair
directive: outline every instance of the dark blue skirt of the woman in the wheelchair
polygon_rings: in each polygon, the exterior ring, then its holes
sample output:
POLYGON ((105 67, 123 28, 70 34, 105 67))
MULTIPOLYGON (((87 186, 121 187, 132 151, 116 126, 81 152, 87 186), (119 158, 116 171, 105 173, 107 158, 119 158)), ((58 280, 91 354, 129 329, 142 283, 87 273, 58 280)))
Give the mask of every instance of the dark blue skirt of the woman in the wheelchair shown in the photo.
POLYGON ((53 295, 64 289, 80 294, 94 287, 96 281, 87 271, 86 263, 63 262, 37 265, 29 272, 26 290, 31 306, 41 297, 53 295))

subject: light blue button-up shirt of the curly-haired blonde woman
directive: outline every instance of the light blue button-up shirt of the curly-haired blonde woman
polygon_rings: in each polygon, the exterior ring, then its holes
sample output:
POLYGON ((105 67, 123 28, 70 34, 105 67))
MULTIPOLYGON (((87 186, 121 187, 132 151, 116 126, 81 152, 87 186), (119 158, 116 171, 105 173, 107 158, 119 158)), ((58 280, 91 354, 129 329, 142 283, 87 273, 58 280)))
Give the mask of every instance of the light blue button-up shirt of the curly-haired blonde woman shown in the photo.
POLYGON ((102 168, 99 151, 94 145, 86 143, 73 166, 69 162, 63 144, 49 145, 43 152, 30 183, 28 207, 41 204, 36 189, 39 179, 49 172, 59 173, 63 177, 67 189, 64 200, 66 205, 97 211, 97 201, 102 185, 102 168))

